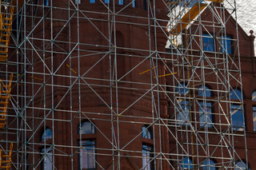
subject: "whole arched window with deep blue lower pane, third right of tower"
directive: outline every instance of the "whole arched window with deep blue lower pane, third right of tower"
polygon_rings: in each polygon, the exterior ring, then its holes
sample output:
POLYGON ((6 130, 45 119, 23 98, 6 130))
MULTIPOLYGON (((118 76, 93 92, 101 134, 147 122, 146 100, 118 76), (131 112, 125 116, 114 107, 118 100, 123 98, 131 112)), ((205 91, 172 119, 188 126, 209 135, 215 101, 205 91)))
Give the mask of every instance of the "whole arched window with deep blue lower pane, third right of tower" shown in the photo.
MULTIPOLYGON (((240 89, 231 89, 230 91, 230 100, 242 100, 242 92, 240 89)), ((242 110, 242 105, 231 103, 231 118, 232 125, 234 130, 243 131, 243 119, 244 113, 242 110)))

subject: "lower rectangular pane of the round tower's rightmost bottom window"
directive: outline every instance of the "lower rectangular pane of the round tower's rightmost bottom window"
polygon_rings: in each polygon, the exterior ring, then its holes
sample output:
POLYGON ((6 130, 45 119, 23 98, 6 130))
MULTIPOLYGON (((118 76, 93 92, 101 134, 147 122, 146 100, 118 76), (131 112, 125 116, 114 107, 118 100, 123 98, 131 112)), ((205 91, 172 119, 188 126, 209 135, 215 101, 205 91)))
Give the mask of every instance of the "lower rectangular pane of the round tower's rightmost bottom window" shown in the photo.
POLYGON ((149 144, 142 144, 142 165, 143 170, 153 170, 154 169, 154 161, 150 161, 150 156, 152 157, 153 154, 153 147, 149 144))

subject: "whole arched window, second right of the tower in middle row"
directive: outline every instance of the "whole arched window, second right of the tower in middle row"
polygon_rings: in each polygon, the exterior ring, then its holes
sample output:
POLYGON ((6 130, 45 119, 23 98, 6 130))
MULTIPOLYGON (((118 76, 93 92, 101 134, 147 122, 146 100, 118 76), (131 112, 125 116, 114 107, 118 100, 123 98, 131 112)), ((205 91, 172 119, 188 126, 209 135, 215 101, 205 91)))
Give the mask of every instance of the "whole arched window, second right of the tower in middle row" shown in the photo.
POLYGON ((210 101, 206 101, 207 97, 212 97, 210 88, 201 85, 198 89, 198 96, 202 97, 202 101, 199 101, 199 121, 200 126, 206 125, 208 128, 212 128, 213 125, 213 108, 210 101))

